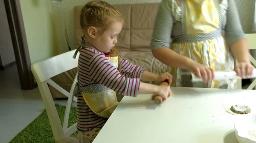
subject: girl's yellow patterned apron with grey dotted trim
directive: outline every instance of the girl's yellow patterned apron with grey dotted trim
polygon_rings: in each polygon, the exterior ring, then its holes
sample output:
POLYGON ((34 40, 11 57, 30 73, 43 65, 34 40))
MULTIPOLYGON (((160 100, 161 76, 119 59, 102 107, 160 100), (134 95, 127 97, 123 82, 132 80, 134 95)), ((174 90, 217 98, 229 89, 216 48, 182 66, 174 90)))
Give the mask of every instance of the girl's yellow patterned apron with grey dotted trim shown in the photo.
MULTIPOLYGON (((106 57, 110 64, 115 68, 118 67, 118 56, 106 57)), ((86 104, 96 114, 104 118, 109 118, 113 111, 116 109, 119 102, 116 98, 116 92, 100 84, 93 85, 92 87, 79 87, 76 83, 74 94, 78 93, 78 89, 82 91, 82 95, 86 104), (93 88, 96 93, 88 93, 87 88, 93 88)))

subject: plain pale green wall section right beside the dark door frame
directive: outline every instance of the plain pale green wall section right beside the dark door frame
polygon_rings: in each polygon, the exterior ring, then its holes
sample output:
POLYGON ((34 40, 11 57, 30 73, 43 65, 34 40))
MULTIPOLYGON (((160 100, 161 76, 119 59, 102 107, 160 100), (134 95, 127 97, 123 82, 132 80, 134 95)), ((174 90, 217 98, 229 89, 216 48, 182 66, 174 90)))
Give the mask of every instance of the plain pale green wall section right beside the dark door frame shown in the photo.
POLYGON ((50 0, 20 0, 31 63, 56 55, 50 0))

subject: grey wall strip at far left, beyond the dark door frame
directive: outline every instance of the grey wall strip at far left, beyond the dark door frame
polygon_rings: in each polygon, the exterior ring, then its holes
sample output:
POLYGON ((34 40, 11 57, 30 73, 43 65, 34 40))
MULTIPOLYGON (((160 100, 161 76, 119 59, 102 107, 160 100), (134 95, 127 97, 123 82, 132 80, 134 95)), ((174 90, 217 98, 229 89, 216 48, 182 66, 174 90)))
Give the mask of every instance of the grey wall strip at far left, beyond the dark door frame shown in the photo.
POLYGON ((3 0, 0 0, 0 66, 15 62, 12 37, 3 0))

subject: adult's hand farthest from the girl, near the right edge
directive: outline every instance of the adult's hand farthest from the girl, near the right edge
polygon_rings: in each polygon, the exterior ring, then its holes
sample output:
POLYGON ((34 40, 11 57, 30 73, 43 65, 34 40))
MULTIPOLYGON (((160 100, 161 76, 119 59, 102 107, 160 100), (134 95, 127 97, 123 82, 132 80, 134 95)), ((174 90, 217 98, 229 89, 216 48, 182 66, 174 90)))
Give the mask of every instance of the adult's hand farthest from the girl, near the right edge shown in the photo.
POLYGON ((246 62, 239 62, 236 64, 236 74, 241 78, 246 78, 247 76, 252 75, 253 65, 246 62))

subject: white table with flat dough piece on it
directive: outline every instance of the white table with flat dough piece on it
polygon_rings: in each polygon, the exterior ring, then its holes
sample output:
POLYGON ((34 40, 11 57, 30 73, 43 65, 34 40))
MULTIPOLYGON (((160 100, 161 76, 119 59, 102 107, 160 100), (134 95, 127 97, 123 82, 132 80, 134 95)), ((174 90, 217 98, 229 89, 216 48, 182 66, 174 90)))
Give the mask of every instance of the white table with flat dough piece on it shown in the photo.
POLYGON ((234 120, 244 115, 224 107, 245 101, 256 110, 256 90, 171 89, 161 105, 151 95, 124 97, 93 143, 238 143, 234 120))

